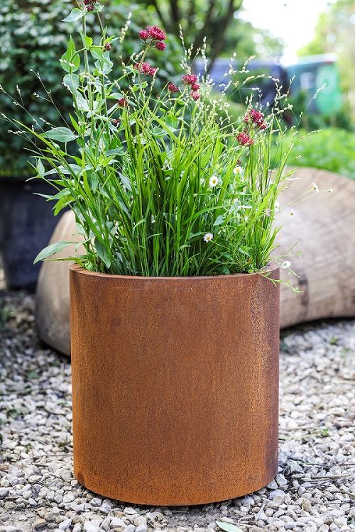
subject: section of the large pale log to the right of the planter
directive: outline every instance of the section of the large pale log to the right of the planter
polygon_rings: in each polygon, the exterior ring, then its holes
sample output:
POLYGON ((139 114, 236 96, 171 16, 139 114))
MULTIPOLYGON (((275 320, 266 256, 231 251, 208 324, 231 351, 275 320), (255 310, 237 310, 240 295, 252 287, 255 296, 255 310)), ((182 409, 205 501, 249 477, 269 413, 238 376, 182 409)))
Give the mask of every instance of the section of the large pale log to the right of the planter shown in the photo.
POLYGON ((280 194, 278 221, 283 227, 277 253, 286 253, 294 244, 295 251, 300 250, 300 258, 290 258, 299 277, 284 271, 283 280, 302 292, 295 295, 281 285, 280 327, 355 316, 355 182, 307 167, 297 168, 292 177, 297 178, 291 182, 295 185, 280 194))

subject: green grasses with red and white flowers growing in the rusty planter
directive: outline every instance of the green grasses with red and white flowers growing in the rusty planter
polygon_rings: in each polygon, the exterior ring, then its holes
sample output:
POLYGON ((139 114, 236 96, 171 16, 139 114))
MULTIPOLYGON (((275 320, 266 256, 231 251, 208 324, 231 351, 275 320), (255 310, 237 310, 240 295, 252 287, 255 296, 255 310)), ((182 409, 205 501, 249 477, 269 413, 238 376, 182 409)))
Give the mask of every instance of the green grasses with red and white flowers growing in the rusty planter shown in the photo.
MULTIPOLYGON (((193 73, 191 49, 180 83, 166 79, 158 92, 150 57, 164 54, 168 39, 157 26, 139 31, 141 52, 122 60, 117 75, 110 53, 123 49, 129 23, 108 35, 101 11, 97 0, 83 0, 65 18, 82 23, 79 43, 70 37, 60 59, 72 98, 65 125, 33 118, 26 126, 3 114, 31 142, 36 176, 53 184, 47 199, 55 214, 67 206, 75 213, 85 255, 68 259, 117 275, 262 271, 276 246, 278 194, 290 177, 292 144, 280 152, 279 143, 285 96, 268 113, 249 99, 233 122, 225 94, 219 99, 208 77, 193 73), (92 16, 97 42, 87 31, 92 16)), ((50 245, 37 260, 69 244, 50 245)))

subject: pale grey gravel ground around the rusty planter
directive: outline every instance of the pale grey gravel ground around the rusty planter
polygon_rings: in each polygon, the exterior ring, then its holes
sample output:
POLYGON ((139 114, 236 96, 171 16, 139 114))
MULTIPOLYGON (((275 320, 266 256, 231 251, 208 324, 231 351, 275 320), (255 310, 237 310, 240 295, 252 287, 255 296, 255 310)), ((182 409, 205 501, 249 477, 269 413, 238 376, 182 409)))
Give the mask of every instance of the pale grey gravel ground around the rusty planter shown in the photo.
POLYGON ((34 297, 1 290, 0 532, 355 531, 355 320, 281 332, 276 479, 192 507, 105 499, 72 475, 70 360, 40 343, 34 297))

